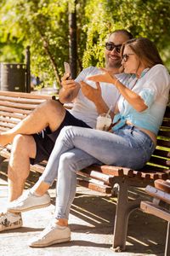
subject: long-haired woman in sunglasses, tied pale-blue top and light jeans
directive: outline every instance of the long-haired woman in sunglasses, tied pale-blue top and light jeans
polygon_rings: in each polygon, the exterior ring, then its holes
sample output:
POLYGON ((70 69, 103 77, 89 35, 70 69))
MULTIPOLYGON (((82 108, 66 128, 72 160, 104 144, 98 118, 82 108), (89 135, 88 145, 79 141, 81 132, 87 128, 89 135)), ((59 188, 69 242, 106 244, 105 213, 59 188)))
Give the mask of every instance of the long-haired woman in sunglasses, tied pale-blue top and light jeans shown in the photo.
POLYGON ((21 212, 48 204, 44 193, 54 178, 58 178, 54 220, 30 242, 31 247, 70 240, 68 216, 76 193, 77 170, 101 163, 139 169, 150 160, 167 106, 169 74, 156 46, 147 38, 123 44, 122 67, 125 73, 133 74, 133 79, 129 79, 132 90, 105 69, 104 73, 89 78, 112 83, 121 93, 111 132, 74 126, 63 128, 42 177, 24 198, 9 206, 10 210, 21 212))

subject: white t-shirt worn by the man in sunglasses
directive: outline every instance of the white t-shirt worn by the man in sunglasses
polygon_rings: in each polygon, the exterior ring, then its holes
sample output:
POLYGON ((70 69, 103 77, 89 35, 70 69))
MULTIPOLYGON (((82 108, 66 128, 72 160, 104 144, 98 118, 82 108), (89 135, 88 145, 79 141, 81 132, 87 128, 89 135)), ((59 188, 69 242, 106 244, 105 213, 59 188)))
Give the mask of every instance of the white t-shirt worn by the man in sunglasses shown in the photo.
MULTIPOLYGON (((82 70, 82 72, 77 76, 77 79, 75 79, 75 81, 77 83, 79 83, 80 81, 84 81, 90 84, 92 87, 96 88, 95 83, 93 81, 89 81, 87 78, 97 73, 101 73, 99 68, 88 67, 82 70)), ((116 77, 123 84, 126 84, 127 80, 129 79, 129 75, 125 73, 116 74, 116 77)), ((100 86, 102 90, 102 97, 105 103, 107 104, 108 108, 110 108, 111 105, 115 107, 116 102, 120 96, 119 91, 116 89, 116 87, 113 84, 100 83, 100 86)), ((81 119, 87 125, 95 128, 96 119, 99 114, 97 112, 94 102, 89 101, 88 98, 82 94, 81 89, 79 90, 78 95, 74 100, 73 108, 71 108, 71 110, 69 111, 77 119, 81 119)))

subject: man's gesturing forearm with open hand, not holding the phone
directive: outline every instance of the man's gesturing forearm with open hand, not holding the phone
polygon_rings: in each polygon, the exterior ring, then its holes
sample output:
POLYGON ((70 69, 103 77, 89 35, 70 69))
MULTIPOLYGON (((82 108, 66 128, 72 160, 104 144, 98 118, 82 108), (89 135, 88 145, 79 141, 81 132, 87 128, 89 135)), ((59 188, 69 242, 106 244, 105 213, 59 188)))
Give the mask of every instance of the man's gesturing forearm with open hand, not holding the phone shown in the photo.
MULTIPOLYGON (((109 111, 109 108, 105 103, 104 99, 102 98, 101 87, 99 83, 96 83, 96 87, 97 87, 96 89, 83 81, 80 82, 80 84, 81 84, 83 95, 86 96, 89 101, 94 102, 97 112, 99 114, 107 113, 109 111)), ((111 118, 113 118, 114 113, 111 112, 110 114, 111 114, 111 118)))

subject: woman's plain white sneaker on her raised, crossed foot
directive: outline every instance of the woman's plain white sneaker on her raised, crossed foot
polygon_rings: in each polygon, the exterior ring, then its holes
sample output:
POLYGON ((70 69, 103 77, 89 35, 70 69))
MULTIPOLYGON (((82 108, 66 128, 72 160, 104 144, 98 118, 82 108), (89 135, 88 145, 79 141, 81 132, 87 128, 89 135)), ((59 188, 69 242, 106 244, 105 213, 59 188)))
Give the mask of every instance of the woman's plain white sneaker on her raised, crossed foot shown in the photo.
POLYGON ((27 190, 18 199, 9 202, 7 208, 9 212, 26 212, 37 208, 48 207, 50 204, 51 201, 48 192, 42 196, 37 196, 31 190, 27 190))

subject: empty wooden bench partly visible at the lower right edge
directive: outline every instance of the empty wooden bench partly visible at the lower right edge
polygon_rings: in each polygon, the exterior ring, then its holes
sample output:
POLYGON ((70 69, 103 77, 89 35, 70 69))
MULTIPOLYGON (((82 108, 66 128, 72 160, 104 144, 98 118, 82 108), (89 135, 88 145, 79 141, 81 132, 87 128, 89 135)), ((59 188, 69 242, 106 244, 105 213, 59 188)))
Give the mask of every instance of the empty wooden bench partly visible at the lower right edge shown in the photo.
POLYGON ((144 212, 167 220, 167 239, 164 255, 168 256, 170 255, 170 180, 157 179, 155 187, 148 185, 145 192, 153 197, 153 201, 141 201, 140 208, 144 212))

